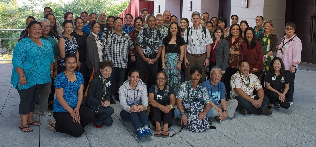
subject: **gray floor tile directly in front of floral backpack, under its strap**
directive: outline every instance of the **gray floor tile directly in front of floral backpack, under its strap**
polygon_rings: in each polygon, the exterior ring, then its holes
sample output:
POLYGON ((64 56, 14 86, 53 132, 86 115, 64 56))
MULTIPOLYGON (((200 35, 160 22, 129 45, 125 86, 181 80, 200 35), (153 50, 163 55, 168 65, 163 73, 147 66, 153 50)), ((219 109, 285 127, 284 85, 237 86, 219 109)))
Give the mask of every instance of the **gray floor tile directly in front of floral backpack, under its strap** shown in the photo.
MULTIPOLYGON (((182 126, 180 125, 173 125, 171 129, 174 132, 180 131, 180 128, 182 126)), ((224 136, 223 134, 217 132, 216 130, 208 129, 205 132, 191 132, 184 128, 178 135, 183 138, 185 141, 192 141, 196 139, 207 139, 207 138, 212 138, 212 137, 218 137, 218 136, 224 136), (194 137, 192 137, 194 136, 194 137)))

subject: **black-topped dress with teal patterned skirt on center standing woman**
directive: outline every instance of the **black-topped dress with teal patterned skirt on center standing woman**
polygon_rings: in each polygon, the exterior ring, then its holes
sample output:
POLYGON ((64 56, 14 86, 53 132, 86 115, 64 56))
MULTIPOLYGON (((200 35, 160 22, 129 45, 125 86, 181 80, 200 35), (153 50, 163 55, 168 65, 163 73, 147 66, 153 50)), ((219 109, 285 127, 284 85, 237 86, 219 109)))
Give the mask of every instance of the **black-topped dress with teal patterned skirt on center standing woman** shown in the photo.
POLYGON ((174 89, 174 93, 178 92, 181 84, 180 70, 176 67, 180 60, 180 46, 185 45, 184 39, 180 37, 176 44, 169 44, 167 38, 164 38, 164 46, 166 47, 165 64, 166 69, 163 71, 167 74, 167 84, 174 89))

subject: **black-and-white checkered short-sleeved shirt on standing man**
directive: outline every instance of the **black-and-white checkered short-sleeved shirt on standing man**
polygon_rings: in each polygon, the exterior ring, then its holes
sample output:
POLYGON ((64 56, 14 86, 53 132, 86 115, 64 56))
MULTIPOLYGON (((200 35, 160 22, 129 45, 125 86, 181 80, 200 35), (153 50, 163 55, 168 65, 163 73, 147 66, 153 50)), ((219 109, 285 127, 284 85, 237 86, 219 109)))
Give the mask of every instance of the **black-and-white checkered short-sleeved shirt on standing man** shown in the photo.
POLYGON ((101 42, 104 45, 104 60, 111 60, 114 67, 127 68, 128 51, 134 48, 131 37, 125 31, 118 35, 111 29, 108 38, 103 33, 101 42))

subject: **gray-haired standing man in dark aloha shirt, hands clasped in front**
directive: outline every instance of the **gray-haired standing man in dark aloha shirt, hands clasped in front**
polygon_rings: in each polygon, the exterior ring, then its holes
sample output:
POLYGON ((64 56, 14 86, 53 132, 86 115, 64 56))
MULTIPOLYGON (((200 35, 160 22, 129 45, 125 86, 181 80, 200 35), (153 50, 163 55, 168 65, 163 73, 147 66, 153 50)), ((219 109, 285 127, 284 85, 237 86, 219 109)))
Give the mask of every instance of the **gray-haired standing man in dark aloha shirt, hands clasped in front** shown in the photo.
POLYGON ((147 71, 147 91, 151 84, 156 82, 156 74, 158 70, 157 60, 162 51, 162 37, 161 32, 155 29, 156 17, 153 14, 146 16, 148 27, 139 31, 135 41, 138 52, 138 59, 136 60, 136 69, 140 71, 141 80, 144 81, 145 73, 147 71))

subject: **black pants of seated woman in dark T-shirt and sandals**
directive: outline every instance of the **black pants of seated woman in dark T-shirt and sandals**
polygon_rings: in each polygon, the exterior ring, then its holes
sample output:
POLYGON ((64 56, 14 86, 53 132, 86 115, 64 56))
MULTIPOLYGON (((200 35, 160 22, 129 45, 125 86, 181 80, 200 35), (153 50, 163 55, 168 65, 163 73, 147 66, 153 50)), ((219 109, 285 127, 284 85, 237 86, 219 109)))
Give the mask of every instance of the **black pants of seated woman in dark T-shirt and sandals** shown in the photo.
MULTIPOLYGON (((166 104, 170 105, 170 104, 166 104)), ((151 118, 151 124, 156 127, 155 121, 163 122, 163 124, 168 123, 168 128, 173 125, 172 118, 174 117, 173 110, 171 109, 169 113, 162 112, 159 108, 150 105, 149 117, 151 118)))

